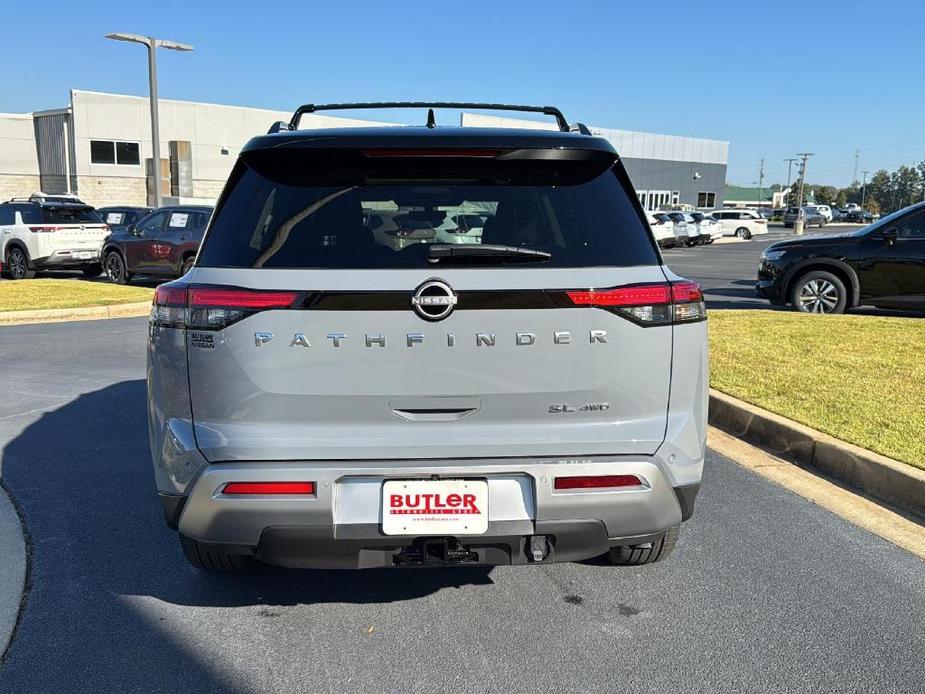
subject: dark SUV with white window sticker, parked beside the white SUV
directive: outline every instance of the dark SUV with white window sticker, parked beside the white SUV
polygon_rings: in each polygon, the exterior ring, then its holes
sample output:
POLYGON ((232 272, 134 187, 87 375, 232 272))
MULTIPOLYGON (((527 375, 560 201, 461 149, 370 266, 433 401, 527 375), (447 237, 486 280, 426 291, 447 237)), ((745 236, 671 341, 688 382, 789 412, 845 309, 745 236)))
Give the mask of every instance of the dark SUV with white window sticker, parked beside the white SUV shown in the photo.
POLYGON ((137 275, 182 277, 193 266, 212 208, 161 207, 113 231, 103 245, 103 269, 116 284, 137 275))

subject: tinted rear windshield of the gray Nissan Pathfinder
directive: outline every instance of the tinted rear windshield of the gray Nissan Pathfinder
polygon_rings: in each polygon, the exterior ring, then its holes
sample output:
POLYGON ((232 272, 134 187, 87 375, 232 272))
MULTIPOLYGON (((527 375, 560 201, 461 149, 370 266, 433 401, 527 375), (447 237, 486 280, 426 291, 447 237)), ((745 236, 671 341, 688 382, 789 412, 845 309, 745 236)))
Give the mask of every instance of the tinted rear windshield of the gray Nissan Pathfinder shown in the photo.
MULTIPOLYGON (((622 165, 239 161, 199 254, 203 267, 431 268, 432 244, 548 253, 529 267, 659 263, 622 165), (348 167, 348 168, 349 168, 348 167), (359 167, 359 168, 357 168, 359 167), (323 173, 320 173, 323 172, 323 173)), ((443 258, 439 262, 461 262, 443 258)), ((523 266, 466 256, 466 264, 523 266)))

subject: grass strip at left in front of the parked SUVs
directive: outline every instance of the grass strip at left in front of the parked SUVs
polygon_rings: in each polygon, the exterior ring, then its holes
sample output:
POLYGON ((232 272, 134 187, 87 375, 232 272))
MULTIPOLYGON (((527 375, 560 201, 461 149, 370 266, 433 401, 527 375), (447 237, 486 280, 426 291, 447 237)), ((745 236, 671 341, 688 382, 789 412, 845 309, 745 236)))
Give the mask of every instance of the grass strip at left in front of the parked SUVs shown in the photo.
POLYGON ((150 301, 153 289, 83 280, 0 280, 0 311, 109 306, 150 301))

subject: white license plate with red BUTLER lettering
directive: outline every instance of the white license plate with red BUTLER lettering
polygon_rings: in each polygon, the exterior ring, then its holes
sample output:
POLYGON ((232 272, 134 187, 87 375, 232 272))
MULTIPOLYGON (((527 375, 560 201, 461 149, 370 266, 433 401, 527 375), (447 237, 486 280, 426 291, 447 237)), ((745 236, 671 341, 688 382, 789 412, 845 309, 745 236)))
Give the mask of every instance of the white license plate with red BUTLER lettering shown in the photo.
POLYGON ((485 480, 389 480, 382 485, 386 535, 481 535, 488 531, 485 480))

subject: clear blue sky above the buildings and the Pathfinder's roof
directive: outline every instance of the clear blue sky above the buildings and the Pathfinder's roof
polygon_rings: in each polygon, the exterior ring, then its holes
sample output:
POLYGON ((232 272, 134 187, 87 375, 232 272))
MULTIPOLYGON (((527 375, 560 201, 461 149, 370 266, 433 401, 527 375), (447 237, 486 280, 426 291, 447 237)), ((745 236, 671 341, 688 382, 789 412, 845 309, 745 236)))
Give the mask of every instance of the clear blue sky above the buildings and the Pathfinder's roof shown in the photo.
MULTIPOLYGON (((729 140, 730 183, 808 179, 925 159, 925 5, 909 1, 73 2, 6 12, 0 111, 70 88, 147 93, 144 49, 112 31, 191 43, 160 51, 162 97, 290 110, 303 102, 551 103, 571 120, 729 140), (19 59, 13 59, 19 56, 19 59)), ((860 177, 860 174, 859 174, 860 177)))

